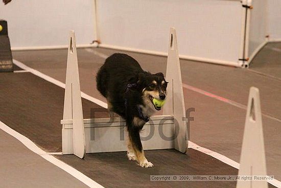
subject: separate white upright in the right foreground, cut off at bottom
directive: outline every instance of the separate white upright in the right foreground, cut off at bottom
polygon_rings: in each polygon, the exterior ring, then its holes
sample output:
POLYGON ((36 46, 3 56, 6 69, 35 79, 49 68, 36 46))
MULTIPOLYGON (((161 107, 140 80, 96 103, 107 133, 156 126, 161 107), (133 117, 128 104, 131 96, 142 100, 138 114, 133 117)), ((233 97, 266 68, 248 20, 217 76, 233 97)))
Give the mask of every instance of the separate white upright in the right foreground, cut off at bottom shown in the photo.
MULTIPOLYGON (((250 88, 248 108, 240 157, 240 176, 266 176, 266 160, 263 136, 260 92, 255 87, 250 88)), ((238 180, 237 188, 265 188, 267 181, 238 180)))

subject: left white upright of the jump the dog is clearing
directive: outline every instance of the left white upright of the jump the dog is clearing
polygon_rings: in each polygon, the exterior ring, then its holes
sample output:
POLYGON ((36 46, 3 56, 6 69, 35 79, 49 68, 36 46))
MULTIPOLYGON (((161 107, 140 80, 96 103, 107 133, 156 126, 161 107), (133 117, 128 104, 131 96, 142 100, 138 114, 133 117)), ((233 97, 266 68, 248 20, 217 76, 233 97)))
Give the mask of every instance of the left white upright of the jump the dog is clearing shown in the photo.
POLYGON ((62 153, 74 153, 76 156, 84 158, 85 134, 74 31, 69 32, 63 119, 73 120, 73 132, 70 134, 62 131, 62 145, 65 146, 62 147, 62 153))

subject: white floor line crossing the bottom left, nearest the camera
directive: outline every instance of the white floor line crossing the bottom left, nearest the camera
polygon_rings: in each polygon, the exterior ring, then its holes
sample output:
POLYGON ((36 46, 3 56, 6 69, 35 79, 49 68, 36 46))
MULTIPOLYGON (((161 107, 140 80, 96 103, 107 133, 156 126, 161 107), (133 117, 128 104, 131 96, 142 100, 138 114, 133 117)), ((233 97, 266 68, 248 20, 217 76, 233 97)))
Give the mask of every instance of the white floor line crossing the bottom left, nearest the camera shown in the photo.
POLYGON ((60 169, 64 170, 68 174, 70 174, 73 177, 77 178, 78 180, 80 180, 81 182, 86 184, 87 186, 89 186, 89 187, 97 187, 97 188, 102 188, 103 187, 102 185, 100 185, 96 181, 93 181, 92 179, 90 179, 86 175, 84 175, 81 172, 79 172, 78 170, 74 169, 72 166, 69 166, 68 164, 62 162, 61 160, 55 158, 54 156, 44 152, 39 147, 37 147, 37 145, 35 143, 33 143, 30 139, 28 139, 24 135, 19 134, 16 131, 14 131, 13 129, 8 127, 5 123, 3 123, 2 121, 0 121, 0 129, 5 131, 9 135, 13 136, 14 138, 16 138, 21 143, 23 143, 32 152, 38 154, 39 156, 41 156, 45 160, 48 160, 52 164, 58 166, 60 169))

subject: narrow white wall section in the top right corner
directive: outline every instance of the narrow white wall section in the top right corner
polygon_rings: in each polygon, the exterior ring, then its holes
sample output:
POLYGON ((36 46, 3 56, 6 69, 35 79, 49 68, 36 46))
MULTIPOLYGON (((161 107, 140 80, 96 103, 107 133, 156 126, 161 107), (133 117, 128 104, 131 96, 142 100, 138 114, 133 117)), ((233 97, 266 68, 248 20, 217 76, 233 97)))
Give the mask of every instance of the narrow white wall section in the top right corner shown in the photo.
POLYGON ((268 32, 270 39, 281 40, 281 1, 268 0, 268 32))

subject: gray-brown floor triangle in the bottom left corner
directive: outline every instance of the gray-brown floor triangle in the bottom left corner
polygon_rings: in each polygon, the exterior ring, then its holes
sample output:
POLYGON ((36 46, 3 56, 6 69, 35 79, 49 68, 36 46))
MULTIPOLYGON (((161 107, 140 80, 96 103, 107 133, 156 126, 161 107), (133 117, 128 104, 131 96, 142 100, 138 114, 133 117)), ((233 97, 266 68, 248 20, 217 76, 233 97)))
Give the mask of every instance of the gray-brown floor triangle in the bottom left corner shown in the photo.
POLYGON ((1 187, 88 187, 0 130, 1 187))

